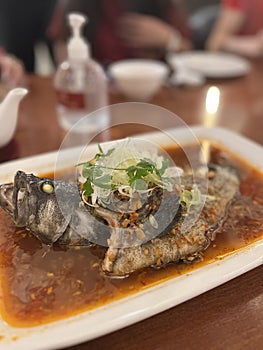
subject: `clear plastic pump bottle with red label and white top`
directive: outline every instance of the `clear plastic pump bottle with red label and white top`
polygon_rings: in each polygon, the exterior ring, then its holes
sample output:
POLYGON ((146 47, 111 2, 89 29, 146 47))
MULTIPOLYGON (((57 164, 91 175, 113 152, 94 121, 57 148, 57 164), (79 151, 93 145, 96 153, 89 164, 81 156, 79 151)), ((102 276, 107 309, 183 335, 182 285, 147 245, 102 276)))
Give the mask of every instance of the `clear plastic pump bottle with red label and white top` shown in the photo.
POLYGON ((107 78, 90 57, 89 45, 81 34, 86 17, 71 13, 68 19, 72 29, 68 58, 59 65, 54 78, 58 120, 64 130, 95 136, 109 123, 107 109, 92 114, 108 104, 107 78))

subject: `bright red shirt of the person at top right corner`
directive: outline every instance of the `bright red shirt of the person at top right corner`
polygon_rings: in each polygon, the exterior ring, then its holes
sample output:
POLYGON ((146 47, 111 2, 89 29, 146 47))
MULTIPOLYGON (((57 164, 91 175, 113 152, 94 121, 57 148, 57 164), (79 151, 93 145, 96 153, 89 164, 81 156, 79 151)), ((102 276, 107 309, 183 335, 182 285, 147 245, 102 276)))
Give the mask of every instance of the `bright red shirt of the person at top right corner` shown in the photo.
POLYGON ((263 0, 222 0, 222 3, 224 8, 244 13, 240 35, 254 35, 263 29, 263 0))

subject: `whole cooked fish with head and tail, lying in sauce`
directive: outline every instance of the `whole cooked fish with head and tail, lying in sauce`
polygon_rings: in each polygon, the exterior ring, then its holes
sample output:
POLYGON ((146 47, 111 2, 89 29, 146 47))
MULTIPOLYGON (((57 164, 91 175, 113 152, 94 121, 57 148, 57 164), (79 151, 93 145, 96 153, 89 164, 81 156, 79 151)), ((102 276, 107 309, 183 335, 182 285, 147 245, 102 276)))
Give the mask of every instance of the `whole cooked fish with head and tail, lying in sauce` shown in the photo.
MULTIPOLYGON (((182 176, 182 188, 193 191, 192 180, 182 176)), ((18 171, 13 184, 0 186, 0 207, 44 243, 108 246, 103 271, 126 276, 147 266, 192 260, 209 246, 239 180, 231 169, 217 166, 209 172, 207 192, 204 184, 200 176, 198 193, 207 194, 190 206, 181 189, 168 193, 158 187, 148 202, 130 201, 131 208, 115 192, 109 205, 90 206, 76 184, 18 171)))

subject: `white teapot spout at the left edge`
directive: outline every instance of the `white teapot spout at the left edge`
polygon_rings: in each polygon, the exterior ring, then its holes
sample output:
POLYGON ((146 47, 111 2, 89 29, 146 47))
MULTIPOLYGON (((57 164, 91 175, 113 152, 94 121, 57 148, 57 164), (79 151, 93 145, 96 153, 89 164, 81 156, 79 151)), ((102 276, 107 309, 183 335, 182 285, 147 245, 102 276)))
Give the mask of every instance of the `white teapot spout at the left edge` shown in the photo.
POLYGON ((17 125, 19 103, 27 93, 24 88, 10 90, 0 104, 0 147, 11 141, 17 125))

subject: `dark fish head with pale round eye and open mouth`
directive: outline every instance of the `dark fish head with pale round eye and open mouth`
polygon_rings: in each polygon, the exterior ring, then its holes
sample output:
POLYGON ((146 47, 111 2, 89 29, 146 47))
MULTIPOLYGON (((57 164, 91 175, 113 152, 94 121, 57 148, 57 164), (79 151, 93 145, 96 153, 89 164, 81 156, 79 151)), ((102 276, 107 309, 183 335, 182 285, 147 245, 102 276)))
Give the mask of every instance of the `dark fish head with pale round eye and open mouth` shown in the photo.
POLYGON ((72 215, 72 196, 77 189, 63 181, 39 178, 18 171, 13 184, 0 186, 0 207, 46 244, 52 244, 66 230, 72 215), (61 207, 63 203, 63 208, 61 207))

